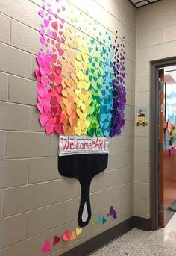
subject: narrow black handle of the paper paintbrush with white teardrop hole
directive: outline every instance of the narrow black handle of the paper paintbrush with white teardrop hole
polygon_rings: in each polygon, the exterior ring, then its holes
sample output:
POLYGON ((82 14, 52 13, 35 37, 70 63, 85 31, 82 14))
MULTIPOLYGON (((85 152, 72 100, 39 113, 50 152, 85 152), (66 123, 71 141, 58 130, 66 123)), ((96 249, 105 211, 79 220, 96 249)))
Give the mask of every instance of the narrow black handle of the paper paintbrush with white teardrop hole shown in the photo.
POLYGON ((78 225, 80 227, 85 227, 91 219, 91 207, 90 207, 90 201, 89 201, 89 188, 90 188, 91 180, 88 180, 86 184, 80 181, 81 202, 80 202, 80 207, 78 212, 78 225))

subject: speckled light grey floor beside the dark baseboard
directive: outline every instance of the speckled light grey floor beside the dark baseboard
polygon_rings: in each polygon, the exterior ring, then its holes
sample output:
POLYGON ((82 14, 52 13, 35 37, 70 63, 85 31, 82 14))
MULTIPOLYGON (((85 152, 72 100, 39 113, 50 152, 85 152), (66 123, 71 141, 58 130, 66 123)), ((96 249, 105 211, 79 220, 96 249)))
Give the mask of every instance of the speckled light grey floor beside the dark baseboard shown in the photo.
POLYGON ((92 256, 176 256, 176 213, 165 228, 141 231, 133 228, 92 256))

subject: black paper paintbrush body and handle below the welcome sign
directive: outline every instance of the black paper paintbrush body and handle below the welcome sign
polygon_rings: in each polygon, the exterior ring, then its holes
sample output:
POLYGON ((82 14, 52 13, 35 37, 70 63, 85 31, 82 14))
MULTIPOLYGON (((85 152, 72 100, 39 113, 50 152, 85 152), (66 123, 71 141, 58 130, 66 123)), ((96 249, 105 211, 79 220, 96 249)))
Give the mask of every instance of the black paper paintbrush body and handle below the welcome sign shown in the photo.
POLYGON ((78 212, 78 225, 84 227, 91 219, 89 187, 92 178, 107 167, 108 154, 75 154, 58 157, 61 175, 77 178, 81 184, 81 203, 78 212))

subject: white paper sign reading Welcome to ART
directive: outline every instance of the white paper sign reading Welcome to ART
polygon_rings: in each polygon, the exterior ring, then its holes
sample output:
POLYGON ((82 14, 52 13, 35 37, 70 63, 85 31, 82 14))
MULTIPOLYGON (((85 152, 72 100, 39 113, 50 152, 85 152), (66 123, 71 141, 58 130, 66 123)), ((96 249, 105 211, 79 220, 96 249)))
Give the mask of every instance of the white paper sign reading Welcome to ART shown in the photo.
POLYGON ((109 153, 109 140, 106 137, 64 136, 59 137, 59 156, 72 154, 109 153))

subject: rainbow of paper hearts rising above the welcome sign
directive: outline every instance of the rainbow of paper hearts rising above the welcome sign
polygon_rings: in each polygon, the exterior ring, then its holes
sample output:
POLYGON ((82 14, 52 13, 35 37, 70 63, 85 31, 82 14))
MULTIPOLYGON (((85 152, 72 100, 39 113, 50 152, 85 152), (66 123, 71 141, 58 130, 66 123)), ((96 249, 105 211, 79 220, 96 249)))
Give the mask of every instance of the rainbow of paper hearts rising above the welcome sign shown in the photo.
POLYGON ((112 40, 108 31, 103 34, 96 27, 95 37, 89 37, 76 28, 78 16, 71 21, 75 27, 66 22, 66 1, 43 1, 39 12, 43 46, 35 75, 37 109, 45 133, 120 134, 126 103, 123 40, 116 34, 112 40))

